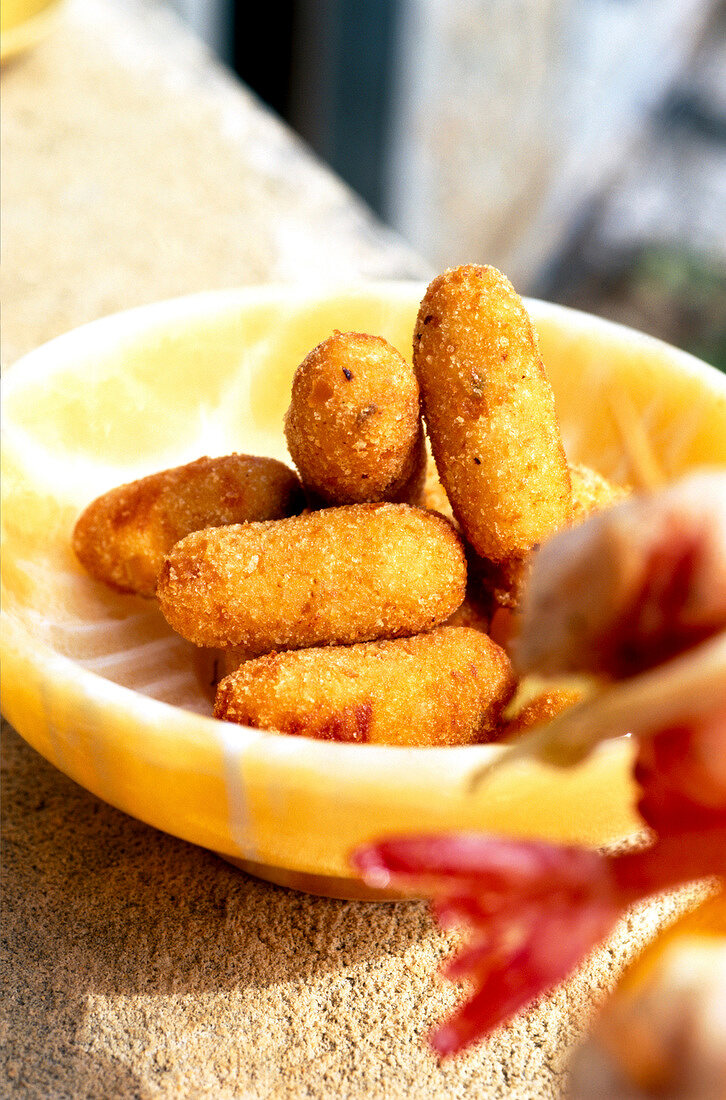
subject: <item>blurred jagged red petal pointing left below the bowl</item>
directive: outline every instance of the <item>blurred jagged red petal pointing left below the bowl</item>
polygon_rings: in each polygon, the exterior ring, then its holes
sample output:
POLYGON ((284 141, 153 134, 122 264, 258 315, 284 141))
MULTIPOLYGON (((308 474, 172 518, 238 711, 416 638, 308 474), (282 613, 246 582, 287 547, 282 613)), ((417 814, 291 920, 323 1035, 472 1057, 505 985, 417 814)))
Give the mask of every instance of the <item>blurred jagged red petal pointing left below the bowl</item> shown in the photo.
POLYGON ((693 879, 726 875, 726 826, 659 837, 642 851, 605 857, 582 848, 501 837, 394 837, 359 849, 375 886, 433 898, 444 926, 473 939, 447 976, 474 988, 430 1036, 452 1054, 565 978, 632 902, 693 879))

